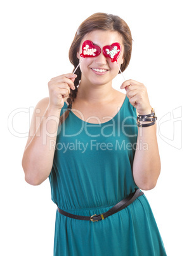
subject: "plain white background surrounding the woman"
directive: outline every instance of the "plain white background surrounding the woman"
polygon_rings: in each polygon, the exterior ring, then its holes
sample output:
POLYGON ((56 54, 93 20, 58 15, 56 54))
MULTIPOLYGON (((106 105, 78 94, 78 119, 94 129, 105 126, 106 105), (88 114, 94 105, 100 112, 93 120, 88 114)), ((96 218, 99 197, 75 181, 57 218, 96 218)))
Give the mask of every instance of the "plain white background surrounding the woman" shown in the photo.
MULTIPOLYGON (((73 69, 68 48, 77 27, 98 11, 119 15, 131 29, 133 53, 124 76, 147 86, 158 117, 162 162, 157 187, 145 194, 167 255, 189 255, 189 41, 188 3, 183 0, 1 3, 0 255, 53 255, 56 206, 48 180, 38 187, 24 180, 21 162, 25 134, 32 108, 48 96, 48 81, 73 69)), ((122 82, 122 76, 117 76, 114 87, 120 90, 122 82)))

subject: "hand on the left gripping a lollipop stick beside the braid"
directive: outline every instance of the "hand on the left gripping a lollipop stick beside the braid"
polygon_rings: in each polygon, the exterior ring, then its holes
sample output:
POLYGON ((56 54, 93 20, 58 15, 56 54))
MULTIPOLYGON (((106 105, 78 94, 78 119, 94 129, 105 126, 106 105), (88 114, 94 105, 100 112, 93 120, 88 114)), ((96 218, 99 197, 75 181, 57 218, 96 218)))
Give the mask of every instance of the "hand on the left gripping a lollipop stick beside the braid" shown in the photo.
POLYGON ((75 89, 74 80, 77 75, 69 73, 56 76, 48 82, 49 87, 49 108, 61 110, 65 100, 70 94, 70 88, 75 89))

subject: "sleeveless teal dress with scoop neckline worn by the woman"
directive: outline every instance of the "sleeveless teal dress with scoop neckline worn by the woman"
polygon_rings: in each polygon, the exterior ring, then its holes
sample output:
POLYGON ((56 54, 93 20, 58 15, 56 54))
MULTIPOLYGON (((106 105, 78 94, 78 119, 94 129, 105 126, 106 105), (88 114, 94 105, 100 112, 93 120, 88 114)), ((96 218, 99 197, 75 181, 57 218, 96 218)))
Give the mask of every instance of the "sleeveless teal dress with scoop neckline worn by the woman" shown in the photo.
MULTIPOLYGON (((67 108, 65 103, 63 111, 67 108)), ((72 111, 59 127, 52 200, 74 215, 108 211, 134 192, 132 166, 138 128, 126 97, 114 118, 103 124, 81 120, 72 111)), ((56 211, 54 256, 164 256, 162 239, 145 196, 98 222, 56 211)))

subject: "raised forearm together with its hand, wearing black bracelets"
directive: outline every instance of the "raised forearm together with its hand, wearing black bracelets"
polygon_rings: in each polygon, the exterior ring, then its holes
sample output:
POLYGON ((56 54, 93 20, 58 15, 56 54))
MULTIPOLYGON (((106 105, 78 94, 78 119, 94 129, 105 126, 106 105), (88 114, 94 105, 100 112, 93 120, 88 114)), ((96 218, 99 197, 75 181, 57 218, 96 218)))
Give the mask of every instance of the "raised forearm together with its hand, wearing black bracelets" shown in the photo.
MULTIPOLYGON (((155 122, 155 113, 148 98, 147 88, 143 83, 126 80, 121 89, 126 89, 129 102, 139 114, 139 126, 155 122), (152 112, 151 112, 152 111, 152 112), (151 121, 152 119, 152 121, 151 121)), ((136 185, 144 190, 155 187, 160 174, 160 157, 156 137, 156 125, 138 128, 136 152, 133 160, 133 177, 136 185)))

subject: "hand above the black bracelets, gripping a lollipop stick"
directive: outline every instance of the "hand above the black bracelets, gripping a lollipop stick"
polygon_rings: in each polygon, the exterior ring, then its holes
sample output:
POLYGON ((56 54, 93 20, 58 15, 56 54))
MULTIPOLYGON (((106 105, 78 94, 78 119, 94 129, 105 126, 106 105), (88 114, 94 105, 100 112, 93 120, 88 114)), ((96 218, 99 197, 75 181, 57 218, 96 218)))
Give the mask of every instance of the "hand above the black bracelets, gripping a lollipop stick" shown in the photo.
POLYGON ((121 89, 126 89, 129 102, 136 108, 138 114, 148 115, 152 107, 148 98, 147 88, 143 83, 134 80, 126 80, 121 85, 121 89))

